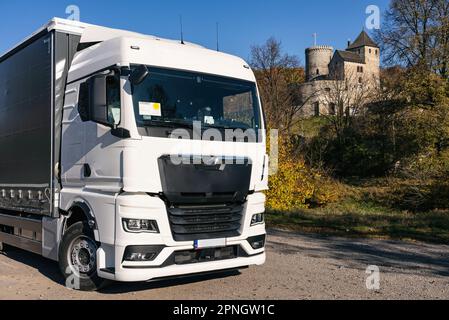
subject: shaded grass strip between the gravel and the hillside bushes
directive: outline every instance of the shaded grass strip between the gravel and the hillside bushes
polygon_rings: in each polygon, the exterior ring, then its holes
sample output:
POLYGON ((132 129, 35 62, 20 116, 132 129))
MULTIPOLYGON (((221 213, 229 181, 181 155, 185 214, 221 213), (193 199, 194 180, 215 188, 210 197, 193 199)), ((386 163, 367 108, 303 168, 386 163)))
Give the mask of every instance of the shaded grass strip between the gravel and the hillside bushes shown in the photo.
MULTIPOLYGON (((340 187, 338 202, 292 212, 268 212, 269 227, 323 235, 449 243, 449 210, 395 207, 397 183, 357 181, 340 187)), ((407 185, 404 181, 403 184, 407 185)))

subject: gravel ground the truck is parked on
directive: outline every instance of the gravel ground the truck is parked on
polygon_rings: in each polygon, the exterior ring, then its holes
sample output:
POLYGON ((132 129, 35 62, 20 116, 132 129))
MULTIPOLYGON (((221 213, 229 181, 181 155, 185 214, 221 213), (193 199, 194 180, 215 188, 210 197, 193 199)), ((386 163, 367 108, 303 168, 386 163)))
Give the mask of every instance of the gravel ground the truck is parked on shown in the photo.
POLYGON ((449 299, 449 246, 269 232, 267 263, 240 272, 101 292, 63 286, 56 263, 18 249, 0 254, 0 299, 449 299), (380 270, 368 290, 366 268, 380 270))

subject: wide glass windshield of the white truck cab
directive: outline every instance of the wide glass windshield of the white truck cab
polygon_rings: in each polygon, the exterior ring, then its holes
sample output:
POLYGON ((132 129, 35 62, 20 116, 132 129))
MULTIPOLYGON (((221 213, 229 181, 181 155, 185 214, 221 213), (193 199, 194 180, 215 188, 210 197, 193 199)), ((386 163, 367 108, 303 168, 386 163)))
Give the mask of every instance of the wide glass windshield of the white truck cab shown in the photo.
POLYGON ((201 73, 148 68, 149 76, 133 86, 138 127, 260 129, 253 82, 201 73))

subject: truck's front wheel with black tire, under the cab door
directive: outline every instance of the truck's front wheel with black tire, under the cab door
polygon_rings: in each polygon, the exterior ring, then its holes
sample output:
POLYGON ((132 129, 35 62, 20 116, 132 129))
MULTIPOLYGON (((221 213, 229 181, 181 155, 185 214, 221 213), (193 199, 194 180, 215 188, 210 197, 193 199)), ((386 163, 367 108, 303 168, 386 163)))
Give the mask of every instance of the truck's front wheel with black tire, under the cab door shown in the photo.
POLYGON ((106 280, 97 274, 98 243, 86 222, 77 222, 64 234, 59 247, 59 268, 66 286, 81 291, 96 291, 106 280))

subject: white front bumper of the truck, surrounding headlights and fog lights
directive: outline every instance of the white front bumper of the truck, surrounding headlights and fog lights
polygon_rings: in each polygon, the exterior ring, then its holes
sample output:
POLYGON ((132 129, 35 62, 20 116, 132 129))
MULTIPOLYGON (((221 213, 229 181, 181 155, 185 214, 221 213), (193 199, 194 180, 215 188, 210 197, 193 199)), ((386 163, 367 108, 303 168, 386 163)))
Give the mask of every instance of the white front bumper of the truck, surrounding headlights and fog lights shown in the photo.
POLYGON ((193 250, 194 242, 174 241, 165 203, 158 197, 150 197, 146 194, 121 195, 117 198, 116 204, 115 244, 102 243, 98 250, 98 275, 115 281, 135 282, 262 265, 266 259, 265 249, 253 249, 247 239, 266 234, 264 224, 250 226, 252 215, 264 212, 264 204, 265 196, 263 194, 258 193, 248 196, 240 236, 226 239, 226 247, 237 246, 244 253, 244 256, 218 261, 166 265, 166 262, 175 252, 193 250), (123 218, 156 220, 160 233, 135 234, 125 232, 121 224, 123 218), (123 261, 126 247, 139 245, 162 245, 164 249, 154 261, 123 261))

